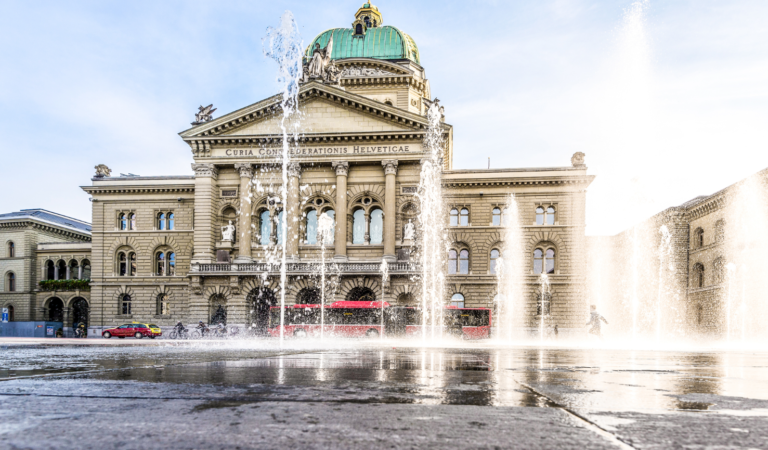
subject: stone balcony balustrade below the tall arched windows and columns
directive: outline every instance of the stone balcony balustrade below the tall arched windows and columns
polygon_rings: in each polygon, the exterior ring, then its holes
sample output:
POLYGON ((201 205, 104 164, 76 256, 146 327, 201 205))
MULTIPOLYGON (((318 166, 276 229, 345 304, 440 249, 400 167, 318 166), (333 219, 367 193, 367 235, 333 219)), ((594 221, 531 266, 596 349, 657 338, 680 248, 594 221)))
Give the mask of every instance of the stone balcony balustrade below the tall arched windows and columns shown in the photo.
MULTIPOLYGON (((321 264, 319 262, 289 262, 286 263, 286 272, 289 274, 318 274, 321 264)), ((390 274, 417 273, 421 266, 415 263, 391 262, 387 263, 390 274)), ((270 263, 217 263, 217 264, 192 264, 192 273, 251 273, 251 274, 279 274, 281 264, 270 263)), ((325 272, 333 274, 375 274, 381 272, 381 263, 377 262, 343 262, 325 263, 325 272)))

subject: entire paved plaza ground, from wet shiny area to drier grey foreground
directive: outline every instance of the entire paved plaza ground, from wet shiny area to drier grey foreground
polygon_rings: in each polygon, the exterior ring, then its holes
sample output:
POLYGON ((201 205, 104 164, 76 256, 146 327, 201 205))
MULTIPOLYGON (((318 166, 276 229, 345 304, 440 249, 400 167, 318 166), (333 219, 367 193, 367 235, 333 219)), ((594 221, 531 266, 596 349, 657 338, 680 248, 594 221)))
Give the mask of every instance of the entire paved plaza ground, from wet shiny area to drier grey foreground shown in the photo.
POLYGON ((768 448, 768 352, 0 342, 0 448, 768 448))

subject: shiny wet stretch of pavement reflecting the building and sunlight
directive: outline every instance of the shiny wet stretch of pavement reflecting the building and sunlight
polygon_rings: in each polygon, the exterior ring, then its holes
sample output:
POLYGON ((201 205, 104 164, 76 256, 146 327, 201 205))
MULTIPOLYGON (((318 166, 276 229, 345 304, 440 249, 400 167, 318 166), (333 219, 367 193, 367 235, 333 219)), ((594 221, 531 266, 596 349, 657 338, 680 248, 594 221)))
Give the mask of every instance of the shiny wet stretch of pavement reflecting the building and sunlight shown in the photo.
MULTIPOLYGON (((713 411, 701 395, 768 408, 768 354, 555 348, 129 347, 2 350, 0 393, 73 380, 132 383, 171 396, 189 386, 254 400, 553 406, 584 411, 713 411), (22 382, 40 376, 45 382, 22 382), (697 395, 699 397, 697 397, 697 395)), ((732 409, 732 408, 728 408, 732 409)))

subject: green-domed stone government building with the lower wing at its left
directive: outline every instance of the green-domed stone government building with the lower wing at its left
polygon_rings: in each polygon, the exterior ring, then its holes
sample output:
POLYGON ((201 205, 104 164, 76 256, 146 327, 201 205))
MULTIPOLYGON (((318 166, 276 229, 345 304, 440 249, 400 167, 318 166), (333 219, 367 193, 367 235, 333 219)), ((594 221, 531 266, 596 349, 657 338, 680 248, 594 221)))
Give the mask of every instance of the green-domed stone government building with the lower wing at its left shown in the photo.
MULTIPOLYGON (((46 211, 0 216, 0 304, 13 309, 13 320, 60 319, 65 333, 86 321, 91 336, 130 321, 171 327, 202 320, 263 331, 281 297, 283 246, 287 304, 319 302, 325 248, 333 281, 327 302, 418 305, 420 268, 410 251, 419 236, 406 239, 405 231, 419 220, 434 95, 411 36, 385 24, 370 3, 350 19, 350 27, 325 31, 307 48, 285 205, 282 94, 216 118, 201 108, 192 128, 179 133, 191 175, 111 176, 99 165, 83 187, 91 224, 46 211), (324 247, 323 213, 335 222, 324 247)), ((455 151, 482 149, 454 148, 453 127, 444 120, 442 130, 446 305, 493 308, 495 259, 518 252, 528 261, 520 326, 536 326, 544 314, 561 333, 583 332, 585 202, 593 180, 584 155, 557 167, 455 169, 455 151), (519 209, 519 248, 504 242, 510 194, 519 209), (546 307, 541 271, 551 286, 546 307)))

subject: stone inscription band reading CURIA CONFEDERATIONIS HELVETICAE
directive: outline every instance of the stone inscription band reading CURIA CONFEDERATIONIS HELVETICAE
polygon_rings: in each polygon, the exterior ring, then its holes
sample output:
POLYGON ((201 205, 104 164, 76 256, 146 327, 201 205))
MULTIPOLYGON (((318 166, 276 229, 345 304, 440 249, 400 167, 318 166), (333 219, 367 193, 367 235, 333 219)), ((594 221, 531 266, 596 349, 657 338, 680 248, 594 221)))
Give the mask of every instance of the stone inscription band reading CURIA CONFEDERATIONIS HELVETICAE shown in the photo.
MULTIPOLYGON (((289 158, 312 158, 321 156, 365 156, 373 154, 410 154, 421 153, 421 143, 386 144, 386 145, 335 145, 328 147, 292 147, 288 150, 289 158)), ((219 158, 280 158, 281 147, 258 148, 216 148, 212 156, 219 158)))

